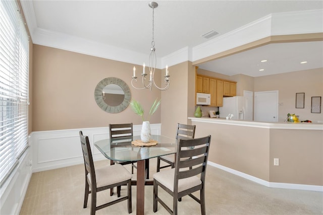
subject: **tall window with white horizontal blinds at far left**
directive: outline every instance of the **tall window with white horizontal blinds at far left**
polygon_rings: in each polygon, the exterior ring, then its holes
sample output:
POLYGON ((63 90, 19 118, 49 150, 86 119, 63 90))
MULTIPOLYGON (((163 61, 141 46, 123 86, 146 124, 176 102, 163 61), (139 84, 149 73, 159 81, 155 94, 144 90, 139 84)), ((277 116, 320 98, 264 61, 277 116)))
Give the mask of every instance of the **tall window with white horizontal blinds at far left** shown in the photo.
POLYGON ((17 1, 0 1, 0 186, 28 147, 29 40, 17 1))

